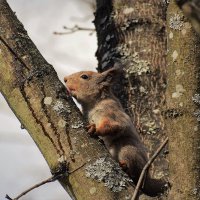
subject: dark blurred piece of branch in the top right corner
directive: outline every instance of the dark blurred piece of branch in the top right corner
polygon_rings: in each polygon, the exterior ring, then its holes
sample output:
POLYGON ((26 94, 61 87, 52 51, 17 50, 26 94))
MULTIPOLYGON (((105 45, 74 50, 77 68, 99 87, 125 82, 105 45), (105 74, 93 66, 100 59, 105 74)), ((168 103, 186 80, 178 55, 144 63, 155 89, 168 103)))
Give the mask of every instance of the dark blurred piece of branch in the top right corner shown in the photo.
POLYGON ((200 1, 199 0, 176 0, 185 16, 190 19, 194 30, 200 34, 200 1))

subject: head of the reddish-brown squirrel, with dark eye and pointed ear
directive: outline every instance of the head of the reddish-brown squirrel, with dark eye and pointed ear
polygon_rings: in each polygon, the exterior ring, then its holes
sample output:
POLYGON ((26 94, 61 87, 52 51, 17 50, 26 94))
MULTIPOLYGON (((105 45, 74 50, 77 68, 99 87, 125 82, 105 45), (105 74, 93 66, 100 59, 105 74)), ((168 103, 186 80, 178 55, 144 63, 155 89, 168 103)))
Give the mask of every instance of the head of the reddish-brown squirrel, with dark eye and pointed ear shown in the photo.
POLYGON ((103 96, 111 95, 110 88, 122 72, 114 66, 105 72, 81 71, 64 77, 68 92, 82 105, 91 105, 103 96))

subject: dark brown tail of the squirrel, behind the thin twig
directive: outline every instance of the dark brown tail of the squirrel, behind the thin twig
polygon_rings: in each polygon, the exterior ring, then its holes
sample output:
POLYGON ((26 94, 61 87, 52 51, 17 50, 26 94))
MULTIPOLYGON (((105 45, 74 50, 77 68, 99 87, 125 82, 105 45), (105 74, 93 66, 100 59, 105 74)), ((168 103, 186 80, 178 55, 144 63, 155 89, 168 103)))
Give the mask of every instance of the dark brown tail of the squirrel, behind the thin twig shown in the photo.
POLYGON ((167 185, 168 183, 163 179, 147 177, 144 186, 141 189, 148 196, 154 197, 164 193, 167 189, 167 185))

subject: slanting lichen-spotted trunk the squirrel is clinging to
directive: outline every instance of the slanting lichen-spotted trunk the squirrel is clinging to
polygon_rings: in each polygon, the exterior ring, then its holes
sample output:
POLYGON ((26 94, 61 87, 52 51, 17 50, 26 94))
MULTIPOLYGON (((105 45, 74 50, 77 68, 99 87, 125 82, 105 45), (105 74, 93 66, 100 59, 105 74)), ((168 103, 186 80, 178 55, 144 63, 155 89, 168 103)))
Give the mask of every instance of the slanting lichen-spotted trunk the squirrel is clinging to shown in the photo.
MULTIPOLYGON (((109 181, 109 175, 120 175, 120 181, 127 180, 103 145, 87 136, 82 116, 53 67, 39 53, 5 0, 0 1, 0 92, 52 172, 58 171, 61 165, 66 166, 65 161, 69 163, 69 171, 78 169, 59 180, 71 196, 81 200, 113 200, 131 195, 130 184, 128 189, 113 192, 108 187, 120 189, 117 180, 105 187, 102 181, 98 183, 86 177, 85 167, 90 165, 99 179, 109 181), (106 160, 99 160, 100 156, 106 160), (96 161, 102 162, 101 171, 94 164, 96 161), (107 169, 109 174, 101 174, 107 169)), ((91 170, 87 174, 91 176, 91 170)))

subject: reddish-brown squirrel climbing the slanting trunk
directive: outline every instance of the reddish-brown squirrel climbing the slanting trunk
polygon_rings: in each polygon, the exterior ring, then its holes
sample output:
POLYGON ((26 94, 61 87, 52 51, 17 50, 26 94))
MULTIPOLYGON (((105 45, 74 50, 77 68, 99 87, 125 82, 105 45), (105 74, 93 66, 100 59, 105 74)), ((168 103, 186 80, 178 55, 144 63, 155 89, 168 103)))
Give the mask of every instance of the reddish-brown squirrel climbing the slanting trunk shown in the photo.
MULTIPOLYGON (((82 106, 89 121, 90 135, 99 136, 109 153, 132 178, 135 184, 148 161, 143 145, 130 117, 125 113, 111 86, 122 68, 114 66, 105 72, 81 71, 64 77, 67 91, 82 106)), ((157 196, 166 189, 166 181, 148 173, 142 191, 157 196)))

